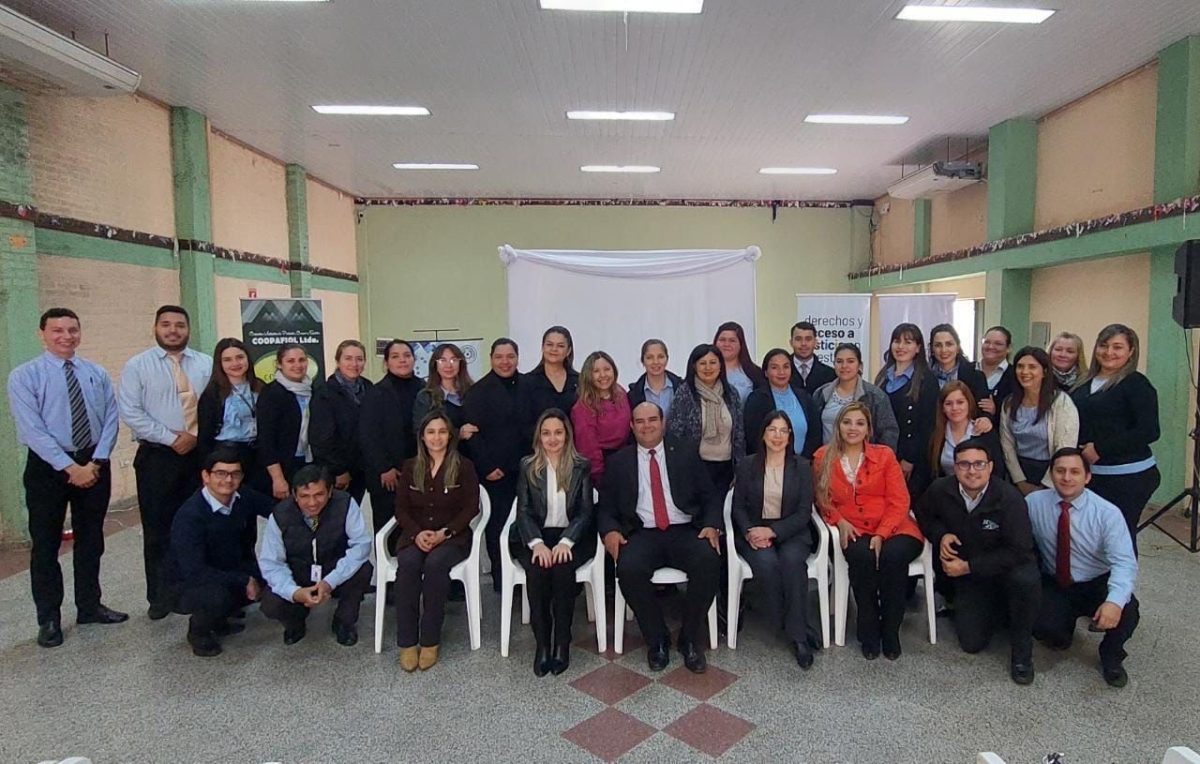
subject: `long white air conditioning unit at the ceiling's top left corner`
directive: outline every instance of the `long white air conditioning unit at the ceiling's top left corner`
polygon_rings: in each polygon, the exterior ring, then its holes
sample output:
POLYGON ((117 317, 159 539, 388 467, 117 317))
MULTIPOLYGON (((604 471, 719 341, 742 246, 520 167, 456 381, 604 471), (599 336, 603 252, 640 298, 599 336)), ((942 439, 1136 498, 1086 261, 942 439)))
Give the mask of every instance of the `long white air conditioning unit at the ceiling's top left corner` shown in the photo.
POLYGON ((49 95, 115 96, 137 90, 142 76, 0 5, 0 80, 49 95))

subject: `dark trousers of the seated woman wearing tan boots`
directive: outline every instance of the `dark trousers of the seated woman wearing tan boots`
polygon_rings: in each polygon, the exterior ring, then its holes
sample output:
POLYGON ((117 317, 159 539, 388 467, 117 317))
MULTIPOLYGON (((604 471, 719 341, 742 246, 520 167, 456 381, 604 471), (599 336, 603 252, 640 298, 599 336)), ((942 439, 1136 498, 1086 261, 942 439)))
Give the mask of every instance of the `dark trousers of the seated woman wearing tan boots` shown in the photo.
MULTIPOLYGON (((442 644, 442 624, 450 594, 450 569, 467 559, 470 547, 440 543, 426 554, 414 543, 396 553, 396 644, 433 648, 442 644), (425 606, 424 612, 421 604, 425 606)), ((499 567, 497 566, 497 577, 499 567)))

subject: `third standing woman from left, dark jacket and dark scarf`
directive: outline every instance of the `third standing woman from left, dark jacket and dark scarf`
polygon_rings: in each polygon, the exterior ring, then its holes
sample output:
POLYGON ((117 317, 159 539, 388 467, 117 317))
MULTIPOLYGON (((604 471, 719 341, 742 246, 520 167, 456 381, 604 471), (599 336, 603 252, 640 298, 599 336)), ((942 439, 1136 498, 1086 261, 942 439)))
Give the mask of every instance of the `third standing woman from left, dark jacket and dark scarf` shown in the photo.
POLYGON ((359 409, 373 385, 362 377, 367 351, 358 339, 347 339, 334 353, 337 371, 312 393, 308 443, 312 461, 329 470, 334 487, 362 503, 367 491, 359 447, 359 409))

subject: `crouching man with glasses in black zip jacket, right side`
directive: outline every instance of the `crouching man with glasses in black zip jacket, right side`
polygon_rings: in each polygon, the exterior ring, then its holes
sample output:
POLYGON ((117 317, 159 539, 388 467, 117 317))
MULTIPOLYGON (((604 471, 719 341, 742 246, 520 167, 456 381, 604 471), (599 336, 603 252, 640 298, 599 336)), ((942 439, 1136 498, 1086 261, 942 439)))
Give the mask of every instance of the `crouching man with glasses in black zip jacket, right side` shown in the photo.
POLYGON ((967 439, 954 449, 954 475, 935 480, 917 503, 917 522, 954 585, 954 628, 966 652, 988 646, 992 632, 1012 632, 1009 673, 1033 681, 1033 619, 1042 598, 1037 552, 1025 498, 991 480, 986 444, 967 439))

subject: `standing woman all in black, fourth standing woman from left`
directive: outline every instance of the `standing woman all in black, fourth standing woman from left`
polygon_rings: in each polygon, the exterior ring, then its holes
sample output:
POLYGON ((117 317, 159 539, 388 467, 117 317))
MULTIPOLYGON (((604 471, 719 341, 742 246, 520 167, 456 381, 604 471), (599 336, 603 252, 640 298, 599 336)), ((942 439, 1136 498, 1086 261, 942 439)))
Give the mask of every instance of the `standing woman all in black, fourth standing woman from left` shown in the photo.
POLYGON ((400 474, 416 456, 413 401, 422 384, 413 373, 413 345, 403 339, 384 347, 383 362, 386 373, 362 396, 359 409, 359 446, 376 531, 392 517, 400 474))

